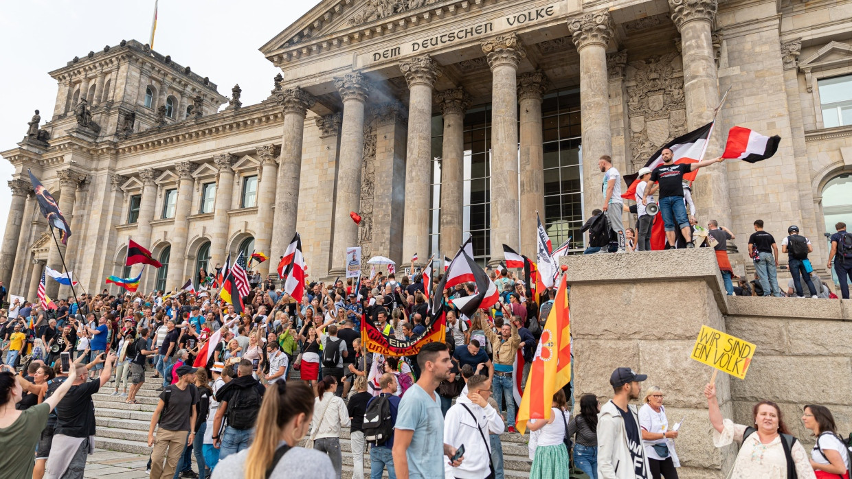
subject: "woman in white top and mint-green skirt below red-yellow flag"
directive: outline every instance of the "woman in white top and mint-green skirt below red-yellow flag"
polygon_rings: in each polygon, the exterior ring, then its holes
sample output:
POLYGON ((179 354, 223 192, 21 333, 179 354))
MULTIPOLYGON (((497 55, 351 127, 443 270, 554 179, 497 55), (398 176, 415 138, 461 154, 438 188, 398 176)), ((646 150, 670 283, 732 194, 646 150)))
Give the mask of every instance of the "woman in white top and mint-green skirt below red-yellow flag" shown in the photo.
POLYGON ((563 479, 570 470, 564 439, 568 435, 565 392, 556 391, 550 404, 550 419, 530 419, 530 449, 533 468, 530 479, 563 479), (533 445, 534 444, 534 445, 533 445))

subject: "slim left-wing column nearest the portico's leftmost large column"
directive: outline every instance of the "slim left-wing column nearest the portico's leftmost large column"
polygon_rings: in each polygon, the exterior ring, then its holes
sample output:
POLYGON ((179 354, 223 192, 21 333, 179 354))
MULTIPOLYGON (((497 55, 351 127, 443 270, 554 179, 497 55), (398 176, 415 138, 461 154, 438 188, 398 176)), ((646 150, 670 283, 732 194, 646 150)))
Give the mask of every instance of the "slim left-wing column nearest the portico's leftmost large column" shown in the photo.
POLYGON ((260 185, 257 185, 255 249, 266 254, 269 259, 260 265, 256 265, 255 269, 260 271, 261 277, 265 279, 269 274, 269 266, 273 263, 273 256, 270 253, 273 228, 272 205, 275 203, 275 186, 278 181, 278 163, 275 160, 278 159, 279 151, 276 145, 258 146, 256 151, 257 156, 261 159, 261 171, 260 185))

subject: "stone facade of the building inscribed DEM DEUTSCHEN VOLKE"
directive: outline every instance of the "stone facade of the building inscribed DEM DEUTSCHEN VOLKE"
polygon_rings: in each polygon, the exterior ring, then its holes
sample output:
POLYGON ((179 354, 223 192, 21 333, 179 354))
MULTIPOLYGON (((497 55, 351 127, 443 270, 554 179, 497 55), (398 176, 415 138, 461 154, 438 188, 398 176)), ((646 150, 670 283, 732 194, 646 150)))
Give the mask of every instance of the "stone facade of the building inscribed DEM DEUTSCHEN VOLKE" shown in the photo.
MULTIPOLYGON (((40 125, 36 114, 24 140, 3 151, 15 174, 0 280, 32 295, 43 265, 61 269, 27 196, 27 168, 70 217, 74 236, 62 248, 90 288, 122 274, 128 237, 155 257, 170 248, 167 288, 194 275, 207 242, 215 265, 254 238, 272 258, 259 269, 273 270, 296 231, 312 278, 336 276, 356 244, 365 256, 401 263, 417 253, 422 262, 436 253, 428 177, 440 135, 440 252, 452 254, 465 235, 463 112, 481 105, 493 112, 491 256, 503 243, 531 255, 547 194, 542 98, 556 88, 579 88, 584 216, 602 202, 598 157, 635 172, 710 121, 729 88, 707 157, 734 125, 782 141, 767 162, 703 170, 699 221, 727 225, 740 251, 757 218, 776 236, 797 224, 820 237, 822 187, 852 170, 852 127, 825 128, 817 88, 852 74, 848 2, 322 2, 262 46, 281 74, 256 105, 243 105, 239 85, 229 99, 190 67, 123 41, 51 71, 52 116, 40 125), (246 207, 250 177, 258 200, 246 207), (212 208, 202 204, 210 184, 212 208), (167 200, 174 214, 164 214, 167 200)), ((824 264, 824 243, 814 247, 824 264)), ((147 270, 142 288, 156 276, 147 270)))

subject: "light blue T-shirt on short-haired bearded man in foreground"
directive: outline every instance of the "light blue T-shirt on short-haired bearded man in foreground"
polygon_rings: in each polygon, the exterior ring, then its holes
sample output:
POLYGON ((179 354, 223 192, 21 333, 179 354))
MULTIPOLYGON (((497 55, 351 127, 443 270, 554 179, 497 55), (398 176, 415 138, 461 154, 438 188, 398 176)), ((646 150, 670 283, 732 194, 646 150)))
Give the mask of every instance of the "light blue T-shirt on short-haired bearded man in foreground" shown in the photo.
POLYGON ((433 399, 420 385, 412 385, 400 401, 395 428, 414 431, 406 449, 411 479, 444 476, 444 415, 440 412, 440 396, 434 394, 433 399))

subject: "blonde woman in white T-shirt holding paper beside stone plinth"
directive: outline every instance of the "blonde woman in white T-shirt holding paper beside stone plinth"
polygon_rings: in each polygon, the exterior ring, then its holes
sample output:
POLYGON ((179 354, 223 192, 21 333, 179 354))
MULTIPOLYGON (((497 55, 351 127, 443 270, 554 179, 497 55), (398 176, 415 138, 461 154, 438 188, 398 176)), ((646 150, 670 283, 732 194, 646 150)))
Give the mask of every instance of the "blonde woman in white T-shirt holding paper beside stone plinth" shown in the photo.
POLYGON ((677 431, 669 425, 663 407, 663 390, 651 386, 645 392, 645 404, 639 409, 639 427, 642 428, 642 445, 645 456, 651 466, 651 476, 659 479, 677 479, 676 467, 681 463, 677 459, 674 439, 677 431))

